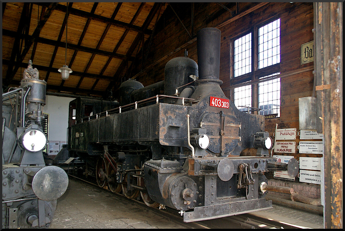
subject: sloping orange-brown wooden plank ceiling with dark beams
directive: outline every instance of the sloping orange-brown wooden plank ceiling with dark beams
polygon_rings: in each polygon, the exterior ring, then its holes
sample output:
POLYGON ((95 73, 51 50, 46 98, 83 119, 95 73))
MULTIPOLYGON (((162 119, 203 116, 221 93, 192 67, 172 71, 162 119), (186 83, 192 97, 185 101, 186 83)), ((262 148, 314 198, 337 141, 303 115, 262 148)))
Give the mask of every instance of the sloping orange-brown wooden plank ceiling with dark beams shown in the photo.
POLYGON ((3 92, 20 85, 32 60, 47 94, 106 97, 166 8, 154 2, 3 2, 3 92), (73 70, 68 80, 58 72, 65 64, 73 70))

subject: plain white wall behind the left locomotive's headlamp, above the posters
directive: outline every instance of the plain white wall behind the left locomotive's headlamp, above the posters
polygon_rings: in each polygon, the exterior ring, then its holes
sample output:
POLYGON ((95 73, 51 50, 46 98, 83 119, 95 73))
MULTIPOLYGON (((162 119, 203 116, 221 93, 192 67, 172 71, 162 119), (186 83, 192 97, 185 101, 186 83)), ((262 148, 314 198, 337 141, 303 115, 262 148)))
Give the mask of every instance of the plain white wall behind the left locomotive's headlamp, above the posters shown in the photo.
POLYGON ((68 107, 75 98, 47 95, 43 113, 49 114, 49 141, 67 141, 68 107))

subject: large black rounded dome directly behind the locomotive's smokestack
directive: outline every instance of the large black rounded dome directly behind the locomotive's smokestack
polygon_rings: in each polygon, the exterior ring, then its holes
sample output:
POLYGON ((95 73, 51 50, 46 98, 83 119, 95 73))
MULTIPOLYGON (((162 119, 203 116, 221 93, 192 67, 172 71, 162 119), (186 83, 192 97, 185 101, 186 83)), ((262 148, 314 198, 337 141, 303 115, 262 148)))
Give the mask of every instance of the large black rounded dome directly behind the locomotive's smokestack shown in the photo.
MULTIPOLYGON (((174 95, 176 88, 193 82, 190 76, 198 76, 198 64, 187 57, 176 57, 167 62, 164 74, 164 95, 174 95)), ((181 92, 185 87, 179 88, 181 92)))

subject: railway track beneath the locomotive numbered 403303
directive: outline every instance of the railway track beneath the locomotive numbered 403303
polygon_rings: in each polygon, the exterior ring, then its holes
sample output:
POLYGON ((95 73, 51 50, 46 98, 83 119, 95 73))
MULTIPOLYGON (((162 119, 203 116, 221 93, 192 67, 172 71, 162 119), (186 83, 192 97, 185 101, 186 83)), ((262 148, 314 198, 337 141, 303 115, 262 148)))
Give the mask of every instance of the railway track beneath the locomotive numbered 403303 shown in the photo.
MULTIPOLYGON (((125 199, 125 200, 135 200, 135 199, 128 199, 125 195, 121 193, 113 193, 106 188, 100 188, 97 184, 92 182, 86 181, 79 177, 69 174, 69 176, 73 177, 73 179, 82 181, 92 187, 95 187, 98 190, 102 190, 103 192, 115 196, 117 198, 125 199)), ((183 222, 183 217, 177 214, 177 211, 171 208, 166 209, 159 209, 159 208, 151 208, 148 207, 144 202, 135 200, 140 206, 143 208, 151 209, 153 212, 157 214, 164 215, 168 219, 178 222, 180 225, 183 225, 189 229, 300 229, 304 227, 299 227, 293 224, 287 224, 280 221, 275 221, 272 219, 266 219, 263 217, 258 217, 250 213, 228 216, 224 218, 217 218, 212 220, 204 220, 204 221, 196 221, 196 222, 183 222)))

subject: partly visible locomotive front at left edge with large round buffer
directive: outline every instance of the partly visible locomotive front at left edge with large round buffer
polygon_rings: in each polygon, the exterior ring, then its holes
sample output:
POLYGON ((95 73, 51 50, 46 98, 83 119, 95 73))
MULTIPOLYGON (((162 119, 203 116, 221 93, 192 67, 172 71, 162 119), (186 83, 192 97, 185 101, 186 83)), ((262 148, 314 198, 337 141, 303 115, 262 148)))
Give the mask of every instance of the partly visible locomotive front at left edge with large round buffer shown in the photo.
POLYGON ((49 227, 68 186, 66 172, 43 158, 46 85, 29 60, 20 87, 2 94, 2 228, 49 227))

